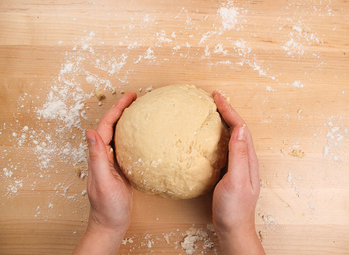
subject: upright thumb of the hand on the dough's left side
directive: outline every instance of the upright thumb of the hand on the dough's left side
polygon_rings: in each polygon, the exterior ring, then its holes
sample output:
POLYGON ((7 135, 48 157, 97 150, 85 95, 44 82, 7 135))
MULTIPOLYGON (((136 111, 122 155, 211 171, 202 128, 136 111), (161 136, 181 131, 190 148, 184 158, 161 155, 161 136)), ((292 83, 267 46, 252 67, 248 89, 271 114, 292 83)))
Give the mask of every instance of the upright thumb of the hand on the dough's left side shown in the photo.
POLYGON ((110 178, 108 154, 102 137, 93 129, 86 130, 85 135, 89 149, 89 175, 91 175, 94 182, 110 178))

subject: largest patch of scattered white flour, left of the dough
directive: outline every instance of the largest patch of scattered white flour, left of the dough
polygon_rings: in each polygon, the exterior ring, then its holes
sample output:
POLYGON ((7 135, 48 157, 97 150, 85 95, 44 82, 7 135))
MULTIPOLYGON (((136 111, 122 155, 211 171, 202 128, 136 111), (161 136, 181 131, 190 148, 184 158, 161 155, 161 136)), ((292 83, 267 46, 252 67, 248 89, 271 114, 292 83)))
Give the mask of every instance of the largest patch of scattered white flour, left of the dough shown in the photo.
MULTIPOLYGON (((126 76, 122 76, 129 71, 121 73, 121 69, 126 64, 128 56, 126 53, 121 53, 119 56, 112 56, 111 53, 107 55, 97 53, 91 46, 91 42, 93 40, 94 45, 102 42, 94 38, 94 32, 86 33, 87 35, 76 38, 72 42, 74 44, 72 51, 64 54, 57 76, 44 86, 47 87, 47 91, 43 91, 46 95, 24 93, 18 99, 18 105, 22 107, 18 107, 15 124, 11 124, 13 129, 11 138, 15 140, 14 149, 27 147, 32 152, 32 158, 16 164, 9 161, 4 165, 5 170, 2 172, 6 178, 5 190, 8 196, 20 194, 19 191, 24 186, 34 191, 37 182, 40 182, 40 185, 46 185, 47 188, 54 186, 50 182, 50 177, 52 174, 59 175, 61 172, 64 173, 63 180, 67 183, 72 182, 73 178, 67 180, 67 176, 70 175, 69 170, 60 169, 58 165, 76 166, 77 169, 74 168, 74 170, 79 170, 81 179, 83 180, 86 176, 87 145, 84 142, 84 130, 91 125, 89 106, 86 102, 94 95, 94 91, 102 86, 104 91, 107 88, 113 91, 115 87, 108 79, 100 78, 87 71, 85 67, 94 66, 97 70, 104 71, 107 76, 115 77, 114 80, 121 84, 127 82, 126 76), (82 47, 76 47, 79 44, 82 47), (80 77, 83 78, 80 79, 80 77), (33 99, 37 101, 36 107, 31 106, 33 99), (20 119, 24 111, 32 114, 33 122, 22 125, 18 121, 17 118, 20 119), (22 174, 23 179, 18 178, 20 174, 18 171, 23 172, 27 165, 30 165, 30 168, 36 165, 36 171, 28 171, 28 174, 22 174)), ((18 150, 17 154, 21 156, 21 151, 18 150)))

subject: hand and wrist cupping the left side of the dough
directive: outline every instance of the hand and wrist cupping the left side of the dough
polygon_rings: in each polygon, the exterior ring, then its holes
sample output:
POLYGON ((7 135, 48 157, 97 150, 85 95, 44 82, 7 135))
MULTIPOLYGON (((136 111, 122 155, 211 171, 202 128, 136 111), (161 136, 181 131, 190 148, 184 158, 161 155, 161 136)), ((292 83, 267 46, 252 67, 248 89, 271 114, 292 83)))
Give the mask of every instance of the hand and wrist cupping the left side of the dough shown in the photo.
POLYGON ((99 121, 86 130, 89 148, 87 194, 90 215, 87 230, 73 254, 116 254, 130 223, 132 187, 118 167, 109 145, 114 125, 134 100, 125 94, 99 121))

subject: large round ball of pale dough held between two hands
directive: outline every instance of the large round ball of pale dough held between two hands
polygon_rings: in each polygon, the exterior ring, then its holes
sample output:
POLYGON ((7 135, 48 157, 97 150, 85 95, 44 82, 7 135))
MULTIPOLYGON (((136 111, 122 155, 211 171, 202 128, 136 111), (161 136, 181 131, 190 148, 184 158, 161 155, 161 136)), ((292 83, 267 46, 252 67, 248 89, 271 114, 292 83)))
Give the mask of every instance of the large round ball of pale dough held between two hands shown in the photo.
POLYGON ((116 158, 125 176, 137 190, 163 198, 209 191, 225 165, 228 142, 212 96, 189 85, 138 98, 115 129, 116 158))

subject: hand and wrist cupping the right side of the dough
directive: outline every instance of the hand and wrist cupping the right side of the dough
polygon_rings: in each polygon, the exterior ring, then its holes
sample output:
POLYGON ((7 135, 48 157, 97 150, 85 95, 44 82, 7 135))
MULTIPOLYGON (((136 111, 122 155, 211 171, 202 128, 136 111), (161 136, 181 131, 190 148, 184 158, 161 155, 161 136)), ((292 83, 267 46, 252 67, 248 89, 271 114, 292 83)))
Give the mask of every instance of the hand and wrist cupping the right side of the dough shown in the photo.
POLYGON ((246 123, 222 94, 212 93, 232 130, 228 171, 213 193, 213 224, 222 254, 265 254, 257 237, 254 212, 260 191, 258 159, 246 123))

